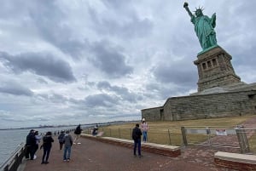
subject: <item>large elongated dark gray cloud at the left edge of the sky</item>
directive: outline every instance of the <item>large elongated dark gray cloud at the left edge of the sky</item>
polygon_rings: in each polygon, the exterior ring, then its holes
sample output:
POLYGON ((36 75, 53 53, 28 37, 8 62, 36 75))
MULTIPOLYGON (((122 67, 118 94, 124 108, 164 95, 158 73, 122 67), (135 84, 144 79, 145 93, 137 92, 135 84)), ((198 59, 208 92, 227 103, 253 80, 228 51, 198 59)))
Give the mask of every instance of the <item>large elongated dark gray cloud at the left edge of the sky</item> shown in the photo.
POLYGON ((3 64, 15 73, 31 71, 39 76, 48 77, 57 83, 75 82, 72 68, 64 60, 58 60, 51 54, 25 53, 9 55, 0 53, 3 64))

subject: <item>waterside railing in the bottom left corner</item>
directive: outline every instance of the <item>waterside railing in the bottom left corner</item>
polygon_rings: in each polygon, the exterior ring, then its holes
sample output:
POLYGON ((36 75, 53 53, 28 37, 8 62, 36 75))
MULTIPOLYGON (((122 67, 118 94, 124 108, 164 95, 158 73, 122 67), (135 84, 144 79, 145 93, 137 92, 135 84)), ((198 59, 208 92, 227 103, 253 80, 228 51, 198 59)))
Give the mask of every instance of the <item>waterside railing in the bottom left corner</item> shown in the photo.
POLYGON ((20 143, 12 155, 3 162, 0 167, 0 171, 16 171, 20 163, 22 162, 23 157, 25 157, 26 147, 24 143, 20 143))

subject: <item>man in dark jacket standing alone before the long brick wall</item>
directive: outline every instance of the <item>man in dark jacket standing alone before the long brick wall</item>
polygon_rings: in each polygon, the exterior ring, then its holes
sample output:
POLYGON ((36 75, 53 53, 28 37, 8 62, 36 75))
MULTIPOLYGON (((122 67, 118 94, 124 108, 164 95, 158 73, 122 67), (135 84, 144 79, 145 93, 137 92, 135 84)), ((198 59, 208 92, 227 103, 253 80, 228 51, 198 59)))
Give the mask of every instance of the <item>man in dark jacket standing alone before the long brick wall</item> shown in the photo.
POLYGON ((141 136, 142 136, 142 130, 139 128, 139 124, 136 124, 136 127, 132 130, 132 139, 134 140, 134 146, 133 146, 133 155, 136 157, 136 149, 138 152, 138 156, 142 157, 141 154, 141 136))

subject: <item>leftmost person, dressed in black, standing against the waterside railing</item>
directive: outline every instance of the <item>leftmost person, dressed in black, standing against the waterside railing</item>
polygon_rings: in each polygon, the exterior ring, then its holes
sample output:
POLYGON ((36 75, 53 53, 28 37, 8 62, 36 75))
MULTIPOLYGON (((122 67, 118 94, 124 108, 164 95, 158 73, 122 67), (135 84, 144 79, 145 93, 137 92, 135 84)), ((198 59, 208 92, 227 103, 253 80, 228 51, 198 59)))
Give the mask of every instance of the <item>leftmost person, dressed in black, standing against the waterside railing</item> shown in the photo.
POLYGON ((36 137, 34 129, 31 129, 29 134, 26 135, 26 160, 33 160, 36 149, 36 137))

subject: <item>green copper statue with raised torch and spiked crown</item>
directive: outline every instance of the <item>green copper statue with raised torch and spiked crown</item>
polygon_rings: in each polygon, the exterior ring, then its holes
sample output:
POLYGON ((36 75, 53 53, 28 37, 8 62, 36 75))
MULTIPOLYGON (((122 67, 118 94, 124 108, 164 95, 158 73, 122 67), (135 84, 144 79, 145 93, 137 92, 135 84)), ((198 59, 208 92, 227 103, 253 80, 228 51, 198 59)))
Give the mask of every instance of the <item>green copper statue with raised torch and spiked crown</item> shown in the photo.
POLYGON ((189 13, 191 22, 195 26, 195 33, 201 44, 203 50, 211 48, 217 45, 216 32, 214 27, 216 26, 216 14, 212 14, 212 18, 202 13, 201 8, 195 10, 195 14, 192 14, 189 10, 189 3, 184 3, 183 8, 189 13))

